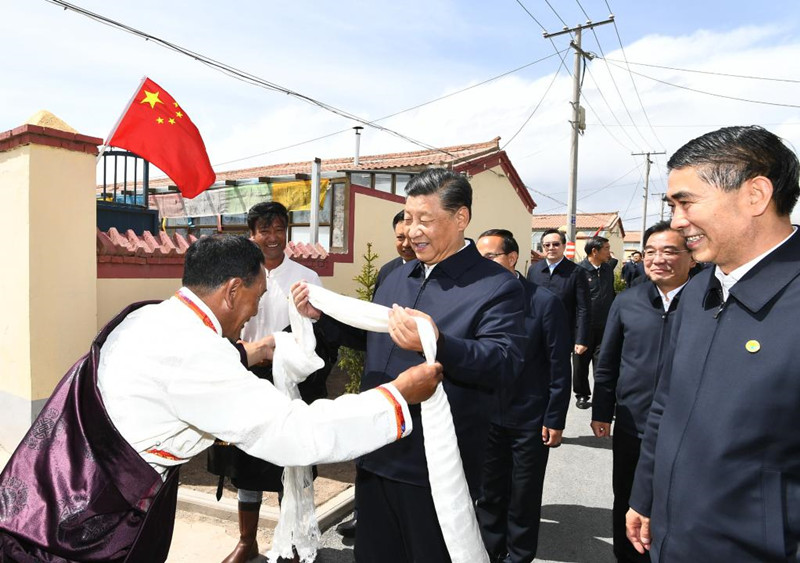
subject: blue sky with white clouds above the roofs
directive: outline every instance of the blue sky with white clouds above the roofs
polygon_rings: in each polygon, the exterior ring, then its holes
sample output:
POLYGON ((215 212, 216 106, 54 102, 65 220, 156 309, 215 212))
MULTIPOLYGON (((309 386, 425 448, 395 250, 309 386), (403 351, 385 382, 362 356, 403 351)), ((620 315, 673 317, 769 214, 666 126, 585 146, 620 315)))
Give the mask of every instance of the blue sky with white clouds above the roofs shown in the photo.
MULTIPOLYGON (((368 119, 452 94, 554 53, 541 27, 516 0, 74 1, 368 119)), ((559 16, 575 25, 586 20, 583 10, 594 21, 609 12, 605 0, 550 0, 552 9, 545 0, 521 1, 548 31, 562 27, 559 16)), ((631 152, 669 154, 706 131, 742 123, 763 124, 800 147, 800 108, 728 100, 632 78, 624 63, 613 62, 623 59, 619 33, 630 62, 795 82, 631 65, 635 72, 725 96, 800 105, 800 2, 608 3, 616 26, 596 28, 596 37, 585 32, 583 40, 585 49, 598 55, 602 50, 609 62, 591 62, 584 81, 587 131, 579 153, 580 211, 618 210, 626 227, 638 230, 643 158, 631 152)), ((48 109, 82 133, 105 137, 140 78, 148 75, 181 102, 220 170, 352 153, 349 131, 272 152, 348 129, 356 124, 351 120, 243 84, 44 0, 0 0, 0 10, 0 130, 48 109), (239 160, 250 155, 259 156, 239 160)), ((566 49, 568 38, 554 42, 566 49)), ((571 72, 572 54, 565 56, 571 72)), ((519 131, 506 150, 533 190, 537 211, 563 211, 571 78, 562 69, 554 79, 559 65, 550 57, 381 123, 438 146, 496 136, 504 146, 519 131)), ((361 146, 364 154, 417 148, 369 128, 361 146)), ((651 173, 656 193, 664 191, 664 162, 656 158, 651 173)), ((652 222, 659 211, 655 198, 649 207, 655 212, 648 217, 652 222)))

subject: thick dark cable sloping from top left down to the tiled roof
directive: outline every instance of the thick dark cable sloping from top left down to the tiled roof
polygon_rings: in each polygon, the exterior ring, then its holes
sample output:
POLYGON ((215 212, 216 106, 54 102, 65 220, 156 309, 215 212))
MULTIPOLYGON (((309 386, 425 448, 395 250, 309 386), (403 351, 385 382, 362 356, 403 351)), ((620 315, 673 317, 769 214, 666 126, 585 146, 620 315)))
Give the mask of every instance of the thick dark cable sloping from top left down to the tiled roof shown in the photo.
POLYGON ((164 47, 166 49, 169 49, 171 51, 175 51, 176 53, 185 55, 187 57, 191 57, 194 60, 196 60, 196 61, 198 61, 198 62, 200 62, 202 64, 205 64, 206 66, 208 66, 208 67, 210 67, 210 68, 212 68, 214 70, 217 70, 217 71, 219 71, 219 72, 221 72, 223 74, 226 74, 226 75, 228 75, 228 76, 230 76, 232 78, 235 78, 236 80, 240 80, 241 82, 245 82, 245 83, 251 84, 253 86, 258 86, 258 87, 264 88, 266 90, 272 90, 272 91, 275 91, 275 92, 281 92, 281 93, 287 94, 289 96, 292 96, 294 98, 297 98, 299 100, 307 102, 307 103, 309 103, 311 105, 317 106, 317 107, 319 107, 319 108, 321 108, 323 110, 326 110, 328 112, 334 113, 334 114, 336 114, 336 115, 338 115, 340 117, 345 117, 345 118, 350 119, 352 121, 357 121, 358 123, 361 123, 363 125, 367 125, 369 127, 373 127, 373 128, 378 129, 380 131, 384 131, 386 133, 389 133, 390 135, 394 135, 395 137, 399 137, 400 139, 408 141, 409 143, 412 143, 412 144, 417 145, 419 147, 425 148, 427 150, 441 152, 441 153, 444 153, 444 154, 446 154, 446 155, 448 155, 448 156, 450 156, 452 158, 456 158, 455 155, 453 155, 453 154, 451 154, 451 153, 449 153, 449 152, 447 152, 447 151, 445 151, 443 149, 440 149, 438 147, 434 147, 433 145, 430 145, 428 143, 424 143, 422 141, 418 141, 418 140, 416 140, 416 139, 414 139, 412 137, 409 137, 408 135, 404 135, 403 133, 400 133, 400 132, 395 131, 393 129, 390 129, 388 127, 384 127, 382 125, 379 125, 379 124, 375 123, 374 121, 370 121, 368 119, 364 119, 364 118, 359 117, 359 116, 357 116, 357 115, 355 115, 353 113, 350 113, 350 112, 345 111, 343 109, 339 109, 339 108, 337 108, 337 107, 335 107, 335 106, 333 106, 331 104, 328 104, 328 103, 322 102, 320 100, 317 100, 317 99, 315 99, 315 98, 313 98, 311 96, 307 96, 305 94, 301 94, 299 92, 295 92, 294 90, 291 90, 289 88, 280 86, 279 84, 276 84, 274 82, 270 82, 270 81, 268 81, 266 79, 263 79, 263 78, 260 78, 260 77, 258 77, 256 75, 254 75, 254 74, 251 74, 251 73, 246 72, 244 70, 240 70, 240 69, 235 68, 233 66, 227 65, 225 63, 222 63, 220 61, 217 61, 215 59, 212 59, 210 57, 207 57, 205 55, 197 53, 195 51, 191 51, 191 50, 189 50, 189 49, 187 49, 185 47, 181 47, 180 45, 177 45, 175 43, 171 43, 171 42, 169 42, 169 41, 167 41, 165 39, 161 39, 160 37, 156 37, 155 35, 150 35, 149 33, 145 33, 145 32, 140 31, 140 30, 138 30, 138 29, 136 29, 134 27, 128 26, 126 24, 123 24, 123 23, 118 22, 116 20, 113 20, 111 18, 107 18, 107 17, 102 16, 100 14, 97 14, 95 12, 91 12, 89 10, 81 8, 80 6, 76 6, 74 4, 70 4, 68 2, 64 2, 63 0, 46 0, 46 1, 50 2, 51 4, 55 4, 57 6, 60 6, 60 7, 64 8, 65 10, 72 10, 72 11, 78 13, 78 14, 86 16, 86 17, 88 17, 90 19, 93 19, 93 20, 95 20, 97 22, 100 22, 100 23, 102 23, 104 25, 107 25, 109 27, 125 31, 126 33, 130 33, 131 35, 142 37, 143 39, 145 39, 147 41, 152 41, 153 43, 156 43, 156 44, 158 44, 158 45, 160 45, 160 46, 162 46, 162 47, 164 47))

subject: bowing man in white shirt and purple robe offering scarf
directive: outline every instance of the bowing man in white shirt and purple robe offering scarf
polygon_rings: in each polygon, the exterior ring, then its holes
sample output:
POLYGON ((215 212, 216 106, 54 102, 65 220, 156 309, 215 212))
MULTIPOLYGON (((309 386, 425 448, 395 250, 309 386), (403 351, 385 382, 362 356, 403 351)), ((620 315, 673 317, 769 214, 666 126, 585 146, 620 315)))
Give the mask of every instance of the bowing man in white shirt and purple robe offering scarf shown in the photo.
MULTIPOLYGON (((312 405, 247 371, 232 342, 265 291, 263 261, 243 237, 204 237, 187 250, 173 298, 100 332, 0 475, 0 560, 165 560, 177 500, 170 469, 215 437, 310 465, 411 431, 408 403, 432 395, 440 365, 312 405)), ((269 358, 271 339, 244 351, 250 363, 269 358)))

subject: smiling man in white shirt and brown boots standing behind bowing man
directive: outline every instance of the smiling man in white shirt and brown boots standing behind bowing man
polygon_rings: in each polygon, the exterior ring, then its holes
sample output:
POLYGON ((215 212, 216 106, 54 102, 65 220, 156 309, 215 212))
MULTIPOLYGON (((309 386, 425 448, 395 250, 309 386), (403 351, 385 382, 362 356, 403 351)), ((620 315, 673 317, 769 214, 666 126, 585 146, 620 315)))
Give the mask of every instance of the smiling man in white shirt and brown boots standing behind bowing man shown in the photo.
MULTIPOLYGON (((315 285, 322 283, 314 270, 286 256, 289 212, 283 204, 277 201, 257 203, 247 212, 247 227, 250 230, 250 239, 264 255, 267 283, 267 291, 258 303, 258 312, 247 321, 242 330, 242 340, 250 342, 261 340, 289 326, 289 288, 293 283, 300 280, 315 285)), ((317 354, 325 361, 325 366, 310 374, 299 385, 301 397, 306 402, 327 396, 325 381, 336 362, 335 348, 325 341, 324 335, 319 331, 315 332, 317 354)), ((269 363, 252 366, 250 371, 260 378, 272 381, 272 366, 269 363)), ((223 459, 228 456, 232 459, 230 464, 224 464, 225 467, 215 468, 214 473, 230 476, 233 485, 239 489, 239 542, 223 563, 239 563, 258 554, 256 535, 263 491, 283 492, 283 467, 241 452, 230 452, 226 446, 215 446, 209 450, 209 468, 214 467, 220 454, 223 459)), ((220 485, 223 478, 220 479, 220 485)))

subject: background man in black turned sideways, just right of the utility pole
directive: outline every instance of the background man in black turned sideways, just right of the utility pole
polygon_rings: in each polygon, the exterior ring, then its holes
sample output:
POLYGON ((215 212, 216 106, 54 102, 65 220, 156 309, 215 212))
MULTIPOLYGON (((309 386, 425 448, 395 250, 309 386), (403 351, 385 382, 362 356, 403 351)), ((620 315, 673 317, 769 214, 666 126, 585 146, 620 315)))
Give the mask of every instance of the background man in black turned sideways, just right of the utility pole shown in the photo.
POLYGON ((591 322, 587 339, 588 350, 585 354, 572 358, 572 389, 577 399, 575 405, 579 409, 588 409, 592 404, 589 401, 592 395, 592 388, 589 385, 589 363, 591 362, 592 366, 597 369, 597 361, 600 359, 600 344, 603 342, 603 330, 611 303, 614 302, 616 296, 614 268, 617 267, 617 259, 611 256, 611 245, 607 238, 593 236, 586 242, 584 250, 586 258, 578 264, 578 272, 589 286, 591 322))

